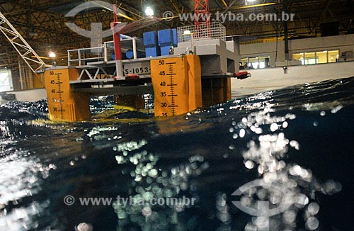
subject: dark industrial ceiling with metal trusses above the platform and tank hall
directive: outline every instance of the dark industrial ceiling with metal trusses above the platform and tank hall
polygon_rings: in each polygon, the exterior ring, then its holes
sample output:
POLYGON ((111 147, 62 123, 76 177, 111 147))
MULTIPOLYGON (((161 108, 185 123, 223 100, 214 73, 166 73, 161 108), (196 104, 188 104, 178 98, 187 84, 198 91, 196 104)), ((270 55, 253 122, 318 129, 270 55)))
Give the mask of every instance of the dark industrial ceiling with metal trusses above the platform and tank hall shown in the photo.
MULTIPOLYGON (((18 30, 45 62, 67 64, 67 50, 89 47, 90 39, 70 30, 66 22, 74 22, 77 26, 90 30, 91 23, 100 22, 103 30, 110 28, 113 12, 104 7, 85 9, 74 18, 66 14, 85 1, 79 0, 17 0, 0 1, 0 12, 18 30), (54 51, 55 58, 49 58, 48 52, 54 51)), ((154 26, 135 31, 130 35, 142 35, 145 30, 192 25, 193 21, 181 21, 178 13, 193 13, 194 1, 178 0, 139 0, 139 1, 106 1, 116 4, 125 17, 123 22, 130 23, 144 17, 144 10, 151 7, 154 16, 162 18, 164 12, 171 11, 175 18, 163 20, 154 26)), ((288 23, 290 38, 319 36, 321 23, 338 22, 339 33, 353 33, 354 0, 210 0, 211 13, 295 13, 294 21, 288 23)), ((257 38, 282 37, 284 23, 282 21, 225 21, 227 35, 255 35, 257 38)), ((106 38, 105 40, 112 40, 106 38)), ((18 55, 8 40, 0 34, 0 66, 18 67, 18 55)))

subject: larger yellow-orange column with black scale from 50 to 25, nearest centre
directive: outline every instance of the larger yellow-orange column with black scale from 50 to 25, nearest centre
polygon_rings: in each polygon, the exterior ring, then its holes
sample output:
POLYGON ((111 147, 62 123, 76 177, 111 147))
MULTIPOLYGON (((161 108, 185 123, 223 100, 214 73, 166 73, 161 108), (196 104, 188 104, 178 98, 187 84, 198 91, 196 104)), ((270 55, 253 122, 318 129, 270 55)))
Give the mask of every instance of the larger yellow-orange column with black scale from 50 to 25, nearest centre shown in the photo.
POLYGON ((151 61, 155 116, 178 116, 202 106, 198 56, 151 61))

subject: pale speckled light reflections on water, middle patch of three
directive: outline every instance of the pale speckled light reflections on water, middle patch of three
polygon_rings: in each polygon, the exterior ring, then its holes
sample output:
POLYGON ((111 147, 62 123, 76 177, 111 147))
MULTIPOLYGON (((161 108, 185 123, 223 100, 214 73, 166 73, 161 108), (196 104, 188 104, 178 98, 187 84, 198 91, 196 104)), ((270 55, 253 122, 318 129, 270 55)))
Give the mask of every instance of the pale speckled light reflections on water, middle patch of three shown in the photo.
MULTIPOLYGON (((115 201, 113 208, 118 214, 118 230, 126 230, 132 224, 141 227, 142 230, 168 230, 171 223, 178 225, 179 230, 185 230, 187 226, 183 225, 181 218, 178 218, 178 213, 183 212, 185 208, 190 208, 190 204, 152 204, 149 201, 152 198, 155 198, 156 201, 180 198, 185 194, 183 192, 191 189, 190 176, 199 176, 203 170, 208 168, 208 164, 204 162, 202 156, 195 155, 189 158, 187 164, 173 167, 171 171, 163 171, 156 168, 159 157, 143 150, 146 144, 147 141, 142 140, 113 147, 114 151, 120 153, 115 157, 118 164, 130 162, 135 165, 135 170, 127 173, 133 179, 128 184, 130 196, 135 201, 144 202, 125 205, 122 201, 115 201), (143 151, 130 154, 130 152, 140 149, 143 151)), ((193 198, 196 203, 199 203, 197 195, 194 195, 193 198)), ((196 224, 190 223, 190 227, 196 227, 196 224)))

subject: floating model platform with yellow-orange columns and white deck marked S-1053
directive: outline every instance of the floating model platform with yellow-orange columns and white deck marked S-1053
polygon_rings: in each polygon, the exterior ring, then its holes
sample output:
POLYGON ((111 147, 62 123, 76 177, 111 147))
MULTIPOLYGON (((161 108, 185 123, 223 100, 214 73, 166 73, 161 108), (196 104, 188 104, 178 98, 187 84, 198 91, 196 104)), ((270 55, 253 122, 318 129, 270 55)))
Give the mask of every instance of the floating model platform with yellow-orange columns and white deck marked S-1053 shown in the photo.
POLYGON ((144 52, 139 38, 121 38, 122 53, 133 54, 130 60, 115 60, 113 42, 69 50, 67 67, 45 69, 50 118, 88 120, 94 95, 128 97, 130 106, 141 108, 141 96, 154 94, 155 116, 163 117, 231 99, 230 78, 239 72, 239 43, 226 40, 220 23, 210 23, 207 33, 195 28, 177 28, 178 45, 159 57, 139 58, 137 54, 144 52))

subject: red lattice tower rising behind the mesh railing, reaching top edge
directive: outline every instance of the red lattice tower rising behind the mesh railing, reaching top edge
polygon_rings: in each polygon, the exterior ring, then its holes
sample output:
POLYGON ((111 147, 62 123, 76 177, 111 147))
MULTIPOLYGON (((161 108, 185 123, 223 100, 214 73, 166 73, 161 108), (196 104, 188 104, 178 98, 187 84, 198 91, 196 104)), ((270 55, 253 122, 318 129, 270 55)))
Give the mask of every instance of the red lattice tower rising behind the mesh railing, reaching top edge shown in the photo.
POLYGON ((210 11, 208 0, 194 1, 194 37, 210 37, 210 11))

